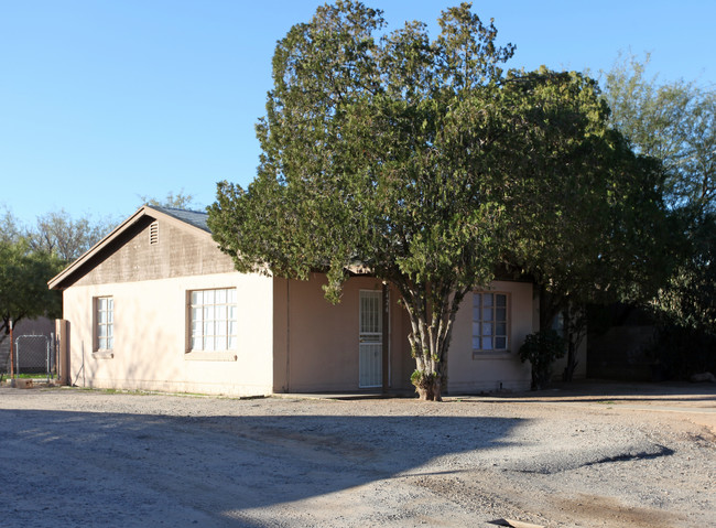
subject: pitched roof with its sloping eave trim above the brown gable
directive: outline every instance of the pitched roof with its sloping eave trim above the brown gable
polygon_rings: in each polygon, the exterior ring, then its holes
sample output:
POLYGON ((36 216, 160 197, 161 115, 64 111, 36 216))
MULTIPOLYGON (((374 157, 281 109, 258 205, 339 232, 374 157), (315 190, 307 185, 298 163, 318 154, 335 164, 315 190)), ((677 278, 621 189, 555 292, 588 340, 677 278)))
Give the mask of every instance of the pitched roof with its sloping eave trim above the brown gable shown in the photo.
POLYGON ((153 205, 143 205, 137 212, 122 222, 120 225, 115 227, 115 229, 109 233, 105 238, 95 244, 87 252, 85 252, 77 260, 67 266, 62 270, 56 277, 52 278, 47 285, 50 289, 63 289, 63 283, 70 278, 74 273, 84 269, 86 265, 100 251, 111 245, 112 241, 117 240, 123 233, 129 228, 137 225, 137 223, 145 219, 160 219, 163 218, 167 222, 173 223, 178 227, 184 227, 187 229, 198 229, 204 236, 210 236, 211 231, 209 230, 206 220, 208 219, 208 214, 200 213, 197 211, 185 211, 176 209, 171 207, 156 207, 153 205))

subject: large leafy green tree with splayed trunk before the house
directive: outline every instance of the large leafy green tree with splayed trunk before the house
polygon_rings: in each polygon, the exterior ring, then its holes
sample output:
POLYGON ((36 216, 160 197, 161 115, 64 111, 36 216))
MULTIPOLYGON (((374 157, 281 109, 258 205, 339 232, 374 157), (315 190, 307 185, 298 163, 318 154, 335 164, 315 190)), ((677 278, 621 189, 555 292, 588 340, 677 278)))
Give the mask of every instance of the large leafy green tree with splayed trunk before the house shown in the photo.
POLYGON ((294 25, 257 127, 257 179, 247 190, 219 183, 209 207, 240 271, 305 279, 322 269, 334 302, 356 261, 393 284, 424 399, 441 398, 464 297, 489 284, 516 233, 554 222, 550 193, 572 193, 581 171, 574 192, 592 193, 589 179, 603 175, 594 160, 609 151, 592 82, 506 77, 499 64, 513 46, 497 46, 492 23, 467 3, 438 22, 434 41, 419 22, 376 40, 381 12, 339 1, 294 25))

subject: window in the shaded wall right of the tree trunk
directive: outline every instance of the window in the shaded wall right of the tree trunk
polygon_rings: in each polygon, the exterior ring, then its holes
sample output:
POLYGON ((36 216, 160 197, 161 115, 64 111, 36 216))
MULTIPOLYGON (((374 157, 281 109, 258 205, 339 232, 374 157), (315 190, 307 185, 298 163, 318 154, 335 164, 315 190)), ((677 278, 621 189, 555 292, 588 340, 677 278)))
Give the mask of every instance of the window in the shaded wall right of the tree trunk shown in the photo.
POLYGON ((507 293, 473 294, 473 349, 507 352, 509 306, 507 293))

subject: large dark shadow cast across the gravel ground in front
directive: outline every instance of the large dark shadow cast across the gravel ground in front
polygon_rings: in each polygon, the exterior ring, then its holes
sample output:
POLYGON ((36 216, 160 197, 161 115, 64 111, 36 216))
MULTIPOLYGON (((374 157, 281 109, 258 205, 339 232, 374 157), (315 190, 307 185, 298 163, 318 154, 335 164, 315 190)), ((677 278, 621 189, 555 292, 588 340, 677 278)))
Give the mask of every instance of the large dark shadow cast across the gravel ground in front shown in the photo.
MULTIPOLYGON (((265 522, 254 508, 499 448, 523 420, 12 410, 0 411, 0 421, 8 424, 0 446, 23 474, 21 486, 0 495, 0 509, 15 511, 15 520, 79 526, 91 515, 98 526, 142 526, 171 513, 187 526, 258 527, 265 522)), ((9 463, 0 459, 0 472, 9 474, 9 463)))

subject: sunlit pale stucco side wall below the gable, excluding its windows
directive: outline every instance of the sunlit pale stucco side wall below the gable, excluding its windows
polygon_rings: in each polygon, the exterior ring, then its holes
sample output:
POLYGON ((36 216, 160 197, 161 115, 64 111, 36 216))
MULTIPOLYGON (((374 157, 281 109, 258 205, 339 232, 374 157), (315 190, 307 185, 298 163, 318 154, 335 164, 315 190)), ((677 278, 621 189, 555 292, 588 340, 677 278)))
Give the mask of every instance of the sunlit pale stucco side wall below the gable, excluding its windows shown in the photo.
POLYGON ((237 396, 271 392, 270 278, 229 272, 74 285, 63 301, 70 325, 73 385, 237 396), (203 353, 197 358, 186 353, 187 291, 213 288, 237 288, 238 346, 236 352, 203 353), (111 354, 93 352, 93 299, 105 295, 115 302, 111 354))

